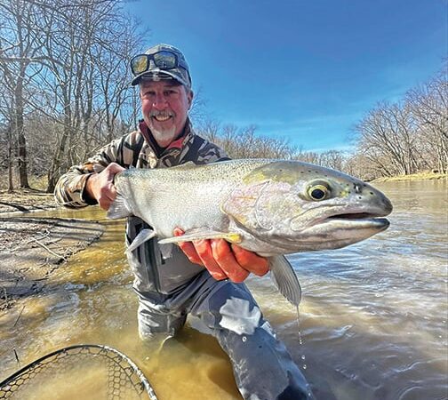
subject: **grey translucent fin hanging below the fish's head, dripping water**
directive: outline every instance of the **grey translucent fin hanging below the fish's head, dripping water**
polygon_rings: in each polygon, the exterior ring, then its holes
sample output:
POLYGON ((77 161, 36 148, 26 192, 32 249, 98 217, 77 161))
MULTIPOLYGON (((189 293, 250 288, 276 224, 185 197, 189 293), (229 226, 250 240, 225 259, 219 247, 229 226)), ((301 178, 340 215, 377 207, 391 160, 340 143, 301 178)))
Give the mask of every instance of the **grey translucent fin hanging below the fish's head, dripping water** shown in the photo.
POLYGON ((292 305, 299 307, 301 300, 301 288, 299 279, 295 275, 292 265, 286 257, 275 256, 269 257, 269 268, 271 278, 276 284, 279 292, 281 292, 286 300, 292 305))

